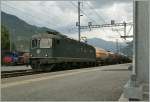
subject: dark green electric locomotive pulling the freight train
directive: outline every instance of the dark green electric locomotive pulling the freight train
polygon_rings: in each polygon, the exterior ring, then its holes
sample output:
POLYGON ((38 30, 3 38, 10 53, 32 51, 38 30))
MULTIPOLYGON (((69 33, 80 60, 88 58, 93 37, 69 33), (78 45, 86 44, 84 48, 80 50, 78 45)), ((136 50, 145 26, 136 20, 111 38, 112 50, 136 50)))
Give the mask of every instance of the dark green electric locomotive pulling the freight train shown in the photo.
POLYGON ((35 71, 62 66, 94 66, 95 48, 61 34, 34 35, 31 38, 30 65, 35 71))

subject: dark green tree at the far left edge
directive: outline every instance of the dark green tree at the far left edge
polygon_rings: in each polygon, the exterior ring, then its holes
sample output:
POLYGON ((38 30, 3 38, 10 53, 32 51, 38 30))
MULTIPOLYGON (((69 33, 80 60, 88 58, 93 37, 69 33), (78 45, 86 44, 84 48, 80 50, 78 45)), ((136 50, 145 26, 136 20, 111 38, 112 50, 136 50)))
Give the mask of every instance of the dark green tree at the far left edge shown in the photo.
POLYGON ((10 39, 9 31, 5 26, 1 26, 1 49, 9 50, 10 49, 10 39))

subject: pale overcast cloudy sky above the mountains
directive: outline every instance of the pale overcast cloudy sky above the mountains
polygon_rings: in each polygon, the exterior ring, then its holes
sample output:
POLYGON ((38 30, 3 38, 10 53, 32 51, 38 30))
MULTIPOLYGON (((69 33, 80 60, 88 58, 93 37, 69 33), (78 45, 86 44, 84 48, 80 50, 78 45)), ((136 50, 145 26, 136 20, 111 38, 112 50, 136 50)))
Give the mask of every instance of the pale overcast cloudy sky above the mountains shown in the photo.
MULTIPOLYGON (((81 0, 81 25, 132 22, 132 0, 81 0)), ((78 20, 77 1, 2 1, 2 11, 16 15, 29 24, 48 27, 59 32, 78 38, 76 22, 78 20)), ((130 27, 129 27, 130 28, 130 27)), ((128 28, 128 29, 129 29, 128 28)), ((123 34, 123 32, 120 32, 123 34)), ((132 34, 132 30, 130 32, 132 34)), ((87 38, 102 38, 107 41, 115 41, 119 33, 112 28, 99 28, 81 31, 87 38)), ((119 39, 119 41, 122 41, 119 39)))

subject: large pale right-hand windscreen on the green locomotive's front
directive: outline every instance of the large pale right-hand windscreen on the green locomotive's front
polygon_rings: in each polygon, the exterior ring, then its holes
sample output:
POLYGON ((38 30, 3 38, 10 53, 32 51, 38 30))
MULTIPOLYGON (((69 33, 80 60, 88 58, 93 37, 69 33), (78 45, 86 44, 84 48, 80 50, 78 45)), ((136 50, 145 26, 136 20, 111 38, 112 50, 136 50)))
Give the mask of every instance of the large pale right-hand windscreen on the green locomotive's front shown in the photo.
POLYGON ((40 48, 51 48, 51 47, 52 47, 52 39, 42 38, 40 40, 40 48))

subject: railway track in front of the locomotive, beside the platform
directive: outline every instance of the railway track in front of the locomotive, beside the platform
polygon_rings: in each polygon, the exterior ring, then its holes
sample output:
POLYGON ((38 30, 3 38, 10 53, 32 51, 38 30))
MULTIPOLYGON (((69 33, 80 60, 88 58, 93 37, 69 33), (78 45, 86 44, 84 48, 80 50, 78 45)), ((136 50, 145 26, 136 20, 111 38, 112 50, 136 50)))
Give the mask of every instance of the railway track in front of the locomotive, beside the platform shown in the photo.
POLYGON ((1 72, 1 78, 25 76, 25 75, 32 75, 32 74, 39 74, 39 73, 41 73, 41 72, 34 72, 32 69, 14 70, 14 71, 2 71, 1 72))

